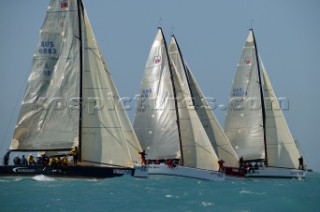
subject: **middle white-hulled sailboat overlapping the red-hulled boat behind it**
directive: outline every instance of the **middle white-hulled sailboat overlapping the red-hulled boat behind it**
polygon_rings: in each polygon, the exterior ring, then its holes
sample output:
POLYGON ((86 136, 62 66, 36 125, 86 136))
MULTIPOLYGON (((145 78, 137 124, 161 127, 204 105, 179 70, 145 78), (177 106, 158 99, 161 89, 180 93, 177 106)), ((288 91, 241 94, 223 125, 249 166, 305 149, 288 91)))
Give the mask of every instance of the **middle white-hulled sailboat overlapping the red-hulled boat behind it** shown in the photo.
POLYGON ((184 65, 159 28, 141 83, 133 127, 147 154, 149 175, 224 180, 218 158, 180 76, 184 65))

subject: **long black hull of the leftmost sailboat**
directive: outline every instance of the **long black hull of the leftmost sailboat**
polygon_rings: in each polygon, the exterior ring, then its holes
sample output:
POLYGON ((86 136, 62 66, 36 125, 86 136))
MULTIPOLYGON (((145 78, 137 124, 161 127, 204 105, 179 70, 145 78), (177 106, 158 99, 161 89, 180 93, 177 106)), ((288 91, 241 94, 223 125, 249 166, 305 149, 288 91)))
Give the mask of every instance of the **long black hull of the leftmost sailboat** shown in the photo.
POLYGON ((32 177, 36 175, 45 175, 50 177, 63 178, 112 178, 123 175, 134 175, 134 168, 123 167, 95 167, 95 166, 68 166, 66 169, 53 169, 47 167, 45 170, 42 166, 0 166, 0 177, 3 176, 20 176, 32 177))

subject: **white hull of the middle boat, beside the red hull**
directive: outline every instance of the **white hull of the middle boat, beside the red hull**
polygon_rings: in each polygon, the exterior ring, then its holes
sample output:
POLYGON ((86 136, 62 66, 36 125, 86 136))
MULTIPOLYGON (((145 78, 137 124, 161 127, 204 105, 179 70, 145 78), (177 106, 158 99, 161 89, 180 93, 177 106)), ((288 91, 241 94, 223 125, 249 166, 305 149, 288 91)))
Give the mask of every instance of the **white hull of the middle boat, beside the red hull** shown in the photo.
POLYGON ((222 172, 206 169, 197 169, 185 166, 169 167, 165 164, 150 164, 149 175, 167 175, 196 178, 201 180, 224 181, 225 174, 222 172))

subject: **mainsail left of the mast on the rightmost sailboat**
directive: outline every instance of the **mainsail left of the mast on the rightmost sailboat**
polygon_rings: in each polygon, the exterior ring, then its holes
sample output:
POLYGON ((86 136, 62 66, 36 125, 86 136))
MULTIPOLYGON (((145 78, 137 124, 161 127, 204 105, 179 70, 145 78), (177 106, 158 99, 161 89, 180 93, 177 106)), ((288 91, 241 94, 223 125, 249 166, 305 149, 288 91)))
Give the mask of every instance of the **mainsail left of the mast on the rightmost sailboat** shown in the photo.
POLYGON ((232 82, 225 133, 239 157, 265 158, 260 78, 256 46, 249 32, 232 82))

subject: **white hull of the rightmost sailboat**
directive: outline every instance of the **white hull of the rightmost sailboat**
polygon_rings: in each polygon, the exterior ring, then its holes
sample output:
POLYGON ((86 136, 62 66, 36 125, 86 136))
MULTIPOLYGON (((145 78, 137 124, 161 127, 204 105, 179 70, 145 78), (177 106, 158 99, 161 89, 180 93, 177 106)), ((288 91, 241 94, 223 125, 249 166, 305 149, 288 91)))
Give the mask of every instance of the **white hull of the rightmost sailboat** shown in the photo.
POLYGON ((298 169, 284 169, 264 167, 257 170, 247 171, 246 177, 261 178, 305 178, 306 171, 298 169))

